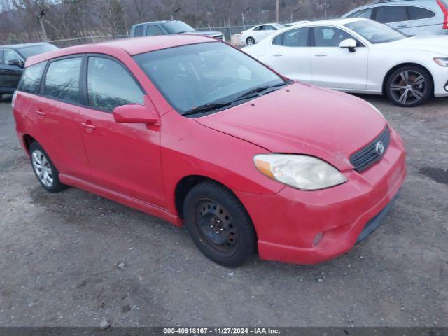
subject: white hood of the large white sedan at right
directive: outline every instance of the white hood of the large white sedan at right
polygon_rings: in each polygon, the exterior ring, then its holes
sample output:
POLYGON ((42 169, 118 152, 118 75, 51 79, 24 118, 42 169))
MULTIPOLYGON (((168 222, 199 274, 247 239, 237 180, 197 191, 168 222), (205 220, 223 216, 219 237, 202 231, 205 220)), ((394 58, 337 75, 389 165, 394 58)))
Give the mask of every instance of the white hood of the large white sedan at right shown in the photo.
POLYGON ((413 36, 385 44, 393 45, 401 50, 412 49, 448 55, 448 36, 413 36))

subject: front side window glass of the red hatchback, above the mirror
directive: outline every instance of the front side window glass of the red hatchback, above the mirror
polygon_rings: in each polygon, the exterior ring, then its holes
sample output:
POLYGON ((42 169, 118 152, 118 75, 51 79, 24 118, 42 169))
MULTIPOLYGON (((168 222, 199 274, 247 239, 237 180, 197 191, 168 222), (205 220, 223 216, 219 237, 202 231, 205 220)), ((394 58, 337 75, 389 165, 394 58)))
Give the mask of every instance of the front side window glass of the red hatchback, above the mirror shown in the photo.
POLYGON ((112 59, 89 57, 88 104, 106 111, 117 106, 144 104, 144 93, 125 68, 112 59))

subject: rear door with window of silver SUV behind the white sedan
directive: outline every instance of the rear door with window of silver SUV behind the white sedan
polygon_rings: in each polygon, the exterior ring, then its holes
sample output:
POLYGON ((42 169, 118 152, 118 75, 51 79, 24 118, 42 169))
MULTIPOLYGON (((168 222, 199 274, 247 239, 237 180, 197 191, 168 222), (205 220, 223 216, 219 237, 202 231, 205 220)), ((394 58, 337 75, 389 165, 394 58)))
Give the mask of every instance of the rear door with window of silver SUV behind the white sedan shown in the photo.
POLYGON ((411 27, 407 6, 378 6, 374 12, 374 20, 384 23, 393 29, 408 35, 411 27))

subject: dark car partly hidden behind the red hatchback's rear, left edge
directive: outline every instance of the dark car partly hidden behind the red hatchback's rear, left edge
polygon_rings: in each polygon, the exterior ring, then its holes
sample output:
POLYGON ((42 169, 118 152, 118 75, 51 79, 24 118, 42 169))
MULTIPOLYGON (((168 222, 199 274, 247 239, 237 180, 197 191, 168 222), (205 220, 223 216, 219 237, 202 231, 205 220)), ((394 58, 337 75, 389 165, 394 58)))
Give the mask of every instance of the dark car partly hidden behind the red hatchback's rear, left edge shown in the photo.
POLYGON ((55 50, 50 43, 0 45, 0 101, 3 94, 13 94, 28 57, 55 50))

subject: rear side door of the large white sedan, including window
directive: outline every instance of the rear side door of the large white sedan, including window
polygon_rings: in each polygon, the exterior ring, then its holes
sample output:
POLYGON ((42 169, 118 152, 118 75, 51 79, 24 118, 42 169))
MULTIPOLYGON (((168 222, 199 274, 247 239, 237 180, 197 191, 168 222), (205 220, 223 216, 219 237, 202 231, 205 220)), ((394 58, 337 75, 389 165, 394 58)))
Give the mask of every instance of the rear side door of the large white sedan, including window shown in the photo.
POLYGON ((311 83, 310 30, 298 28, 276 36, 265 55, 266 64, 290 79, 311 83))

